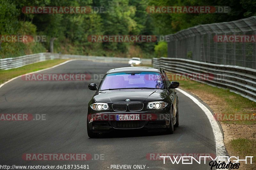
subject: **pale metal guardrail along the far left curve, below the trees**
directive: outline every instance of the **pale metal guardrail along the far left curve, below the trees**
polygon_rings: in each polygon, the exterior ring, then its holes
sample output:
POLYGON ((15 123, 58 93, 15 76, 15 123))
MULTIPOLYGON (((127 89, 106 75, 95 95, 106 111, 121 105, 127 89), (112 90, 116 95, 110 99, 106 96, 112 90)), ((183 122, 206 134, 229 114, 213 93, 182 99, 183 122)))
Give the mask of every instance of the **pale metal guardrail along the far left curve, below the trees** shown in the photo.
MULTIPOLYGON (((130 58, 121 57, 104 57, 104 56, 87 56, 87 55, 67 55, 58 53, 37 53, 31 55, 24 55, 13 58, 0 59, 0 70, 9 70, 18 67, 22 67, 28 64, 42 62, 53 59, 77 59, 87 60, 94 62, 111 62, 111 63, 127 63, 130 58)), ((141 59, 142 64, 152 64, 151 59, 141 59)))

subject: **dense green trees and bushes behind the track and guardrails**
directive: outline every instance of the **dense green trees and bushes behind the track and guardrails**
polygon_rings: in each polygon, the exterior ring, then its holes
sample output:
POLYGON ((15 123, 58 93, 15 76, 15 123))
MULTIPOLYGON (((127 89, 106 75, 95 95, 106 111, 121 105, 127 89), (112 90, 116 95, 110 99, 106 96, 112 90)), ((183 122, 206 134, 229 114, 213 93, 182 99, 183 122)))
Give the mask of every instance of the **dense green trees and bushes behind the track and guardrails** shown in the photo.
POLYGON ((89 35, 166 35, 199 24, 231 21, 255 15, 253 0, 0 0, 1 35, 46 35, 46 42, 0 43, 0 58, 50 49, 80 55, 123 57, 166 56, 164 42, 88 42, 89 35), (230 6, 224 14, 148 13, 148 6, 230 6), (97 6, 104 13, 26 14, 24 6, 97 6), (155 52, 154 52, 155 50, 155 52))

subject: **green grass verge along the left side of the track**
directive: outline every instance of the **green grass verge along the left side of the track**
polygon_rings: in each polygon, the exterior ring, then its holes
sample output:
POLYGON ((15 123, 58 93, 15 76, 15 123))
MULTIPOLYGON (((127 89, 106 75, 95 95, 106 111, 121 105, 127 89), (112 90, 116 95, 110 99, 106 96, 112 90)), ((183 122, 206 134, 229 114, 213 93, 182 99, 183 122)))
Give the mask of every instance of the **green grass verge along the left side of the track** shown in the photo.
POLYGON ((23 74, 52 67, 67 60, 48 60, 39 63, 29 64, 17 69, 0 70, 0 84, 23 74))

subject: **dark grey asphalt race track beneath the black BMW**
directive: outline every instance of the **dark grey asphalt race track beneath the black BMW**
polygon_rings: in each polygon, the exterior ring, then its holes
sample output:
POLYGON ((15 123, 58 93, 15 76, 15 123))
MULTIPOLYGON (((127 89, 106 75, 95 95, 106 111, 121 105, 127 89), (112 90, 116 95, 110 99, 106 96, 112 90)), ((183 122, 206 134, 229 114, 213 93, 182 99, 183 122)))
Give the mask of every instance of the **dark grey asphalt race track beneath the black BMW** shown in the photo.
MULTIPOLYGON (((103 75, 128 64, 72 61, 40 73, 103 75)), ((178 93, 180 127, 173 134, 123 131, 88 138, 87 104, 97 81, 24 81, 17 78, 0 88, 0 114, 45 114, 45 120, 0 121, 1 165, 89 165, 91 170, 111 165, 146 165, 145 169, 210 169, 207 164, 172 164, 150 160, 149 153, 216 154, 211 125, 204 112, 178 93), (89 153, 88 161, 26 161, 24 153, 89 153), (98 155, 102 155, 99 160, 98 155), (97 160, 95 160, 97 159, 97 160)), ((181 85, 182 86, 182 85, 181 85)), ((204 155, 203 155, 204 156, 204 155)), ((142 166, 143 167, 143 166, 142 166)), ((112 168, 113 169, 113 168, 112 168)), ((133 169, 133 168, 132 168, 133 169)))

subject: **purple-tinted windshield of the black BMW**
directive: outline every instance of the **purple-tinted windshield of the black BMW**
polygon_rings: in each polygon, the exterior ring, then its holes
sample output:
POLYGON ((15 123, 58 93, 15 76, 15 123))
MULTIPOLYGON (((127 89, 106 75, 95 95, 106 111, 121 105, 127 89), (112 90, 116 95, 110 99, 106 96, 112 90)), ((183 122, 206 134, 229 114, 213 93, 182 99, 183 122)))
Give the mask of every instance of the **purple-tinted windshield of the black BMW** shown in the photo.
POLYGON ((100 90, 152 88, 164 89, 164 81, 158 72, 118 72, 108 74, 100 90))

